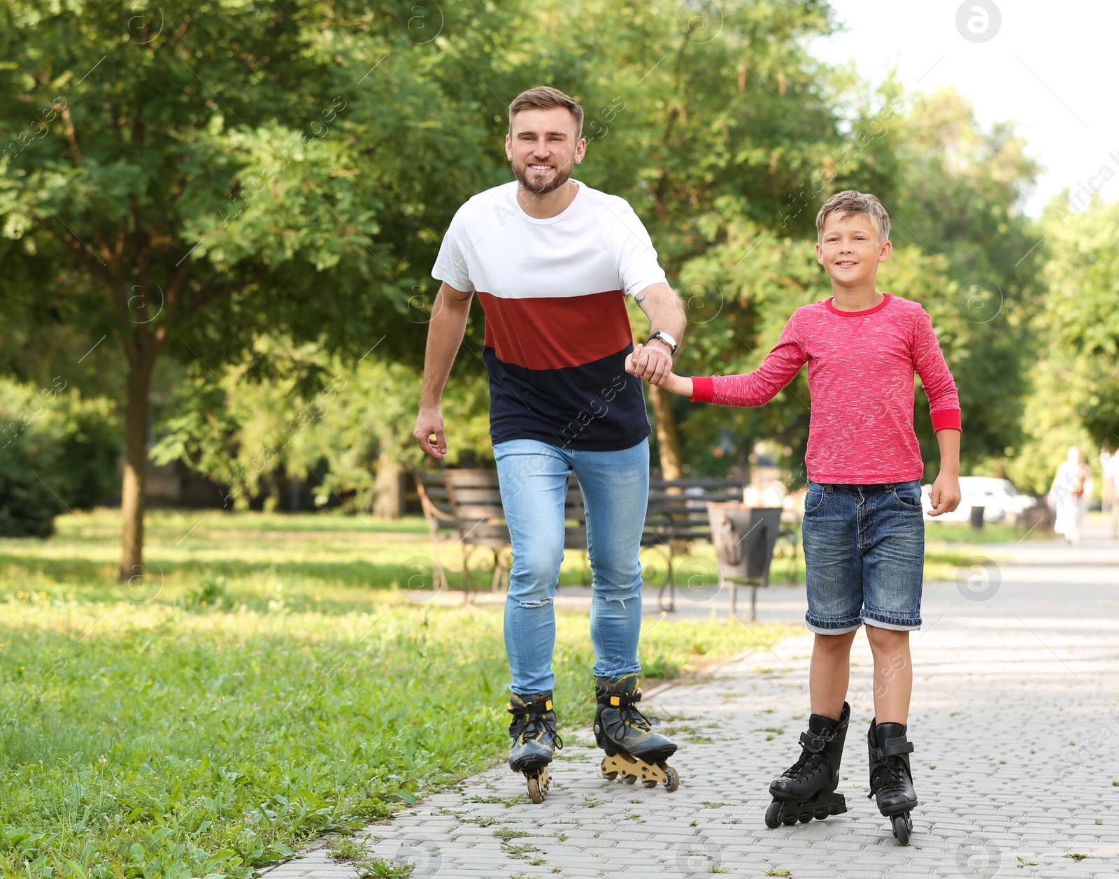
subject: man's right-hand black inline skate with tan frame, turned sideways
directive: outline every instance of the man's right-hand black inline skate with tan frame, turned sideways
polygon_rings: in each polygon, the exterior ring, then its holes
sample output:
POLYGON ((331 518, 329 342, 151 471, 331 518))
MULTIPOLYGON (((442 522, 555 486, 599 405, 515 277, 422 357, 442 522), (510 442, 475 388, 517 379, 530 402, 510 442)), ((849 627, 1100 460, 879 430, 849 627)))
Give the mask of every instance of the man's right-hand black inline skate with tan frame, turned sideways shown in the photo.
POLYGON ((676 743, 668 736, 653 732, 660 721, 646 717, 638 709, 641 690, 637 674, 627 674, 617 681, 594 679, 594 738, 606 752, 602 758, 602 777, 608 782, 621 776, 626 784, 638 778, 646 787, 657 782, 669 793, 680 784, 676 769, 665 763, 676 753, 676 743))

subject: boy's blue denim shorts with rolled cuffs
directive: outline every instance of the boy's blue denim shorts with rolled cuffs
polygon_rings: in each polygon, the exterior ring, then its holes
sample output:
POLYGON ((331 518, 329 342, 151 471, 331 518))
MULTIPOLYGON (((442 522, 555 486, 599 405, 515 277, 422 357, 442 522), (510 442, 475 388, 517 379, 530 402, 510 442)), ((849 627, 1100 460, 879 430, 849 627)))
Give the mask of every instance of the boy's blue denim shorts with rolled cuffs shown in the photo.
POLYGON ((808 483, 805 566, 812 632, 921 627, 924 514, 916 481, 808 483))

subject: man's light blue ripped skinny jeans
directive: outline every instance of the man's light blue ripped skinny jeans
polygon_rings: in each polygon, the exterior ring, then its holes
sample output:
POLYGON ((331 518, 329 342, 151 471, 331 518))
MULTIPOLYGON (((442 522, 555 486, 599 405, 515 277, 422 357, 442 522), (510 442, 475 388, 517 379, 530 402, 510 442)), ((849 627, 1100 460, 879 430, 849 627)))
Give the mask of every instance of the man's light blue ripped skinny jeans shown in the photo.
POLYGON ((649 443, 618 452, 585 452, 509 440, 493 446, 501 503, 513 539, 505 602, 505 646, 518 696, 555 686, 553 599, 563 561, 567 474, 579 478, 586 510, 586 545, 594 571, 591 643, 594 677, 611 680, 641 670, 641 531, 649 502, 649 443))

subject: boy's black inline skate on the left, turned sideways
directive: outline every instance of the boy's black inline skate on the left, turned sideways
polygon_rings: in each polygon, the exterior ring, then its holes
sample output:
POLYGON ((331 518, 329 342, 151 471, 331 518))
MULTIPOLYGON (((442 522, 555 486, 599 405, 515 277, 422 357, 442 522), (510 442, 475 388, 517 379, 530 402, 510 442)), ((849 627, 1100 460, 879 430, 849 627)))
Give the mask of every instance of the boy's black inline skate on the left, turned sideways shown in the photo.
POLYGON ((839 786, 839 762, 847 738, 850 706, 843 703, 838 720, 822 715, 808 718, 808 729, 800 734, 800 758, 770 784, 773 802, 765 810, 765 826, 808 823, 847 811, 839 786))

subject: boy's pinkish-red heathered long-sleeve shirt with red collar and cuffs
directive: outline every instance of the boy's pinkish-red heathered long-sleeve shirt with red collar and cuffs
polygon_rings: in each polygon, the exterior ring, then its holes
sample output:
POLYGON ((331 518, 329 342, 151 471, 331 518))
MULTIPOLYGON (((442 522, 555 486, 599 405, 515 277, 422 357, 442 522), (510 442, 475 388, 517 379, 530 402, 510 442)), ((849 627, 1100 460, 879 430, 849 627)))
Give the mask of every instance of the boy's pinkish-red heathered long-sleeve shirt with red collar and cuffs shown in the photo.
POLYGON ((913 433, 913 374, 932 429, 960 429, 960 400, 928 313, 885 294, 866 311, 831 300, 797 309, 764 362, 744 376, 693 379, 692 399, 763 406, 808 363, 811 418, 805 463, 812 482, 871 485, 924 473, 913 433))

